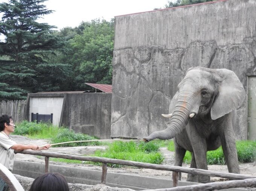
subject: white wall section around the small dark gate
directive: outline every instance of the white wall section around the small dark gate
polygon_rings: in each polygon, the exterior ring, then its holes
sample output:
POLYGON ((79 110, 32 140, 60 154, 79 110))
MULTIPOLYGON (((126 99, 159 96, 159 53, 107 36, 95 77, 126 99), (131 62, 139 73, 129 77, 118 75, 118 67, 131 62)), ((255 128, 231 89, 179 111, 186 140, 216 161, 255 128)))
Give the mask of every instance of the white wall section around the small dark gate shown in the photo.
POLYGON ((31 113, 51 114, 52 124, 59 125, 61 118, 61 110, 63 97, 30 97, 29 100, 29 120, 31 121, 31 113))

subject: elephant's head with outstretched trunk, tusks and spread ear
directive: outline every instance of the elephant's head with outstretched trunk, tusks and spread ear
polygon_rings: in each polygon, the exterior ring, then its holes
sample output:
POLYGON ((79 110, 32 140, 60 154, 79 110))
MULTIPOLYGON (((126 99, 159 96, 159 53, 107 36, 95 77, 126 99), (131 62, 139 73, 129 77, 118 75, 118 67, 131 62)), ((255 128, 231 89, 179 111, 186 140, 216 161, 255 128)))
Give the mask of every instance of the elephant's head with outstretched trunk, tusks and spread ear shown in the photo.
POLYGON ((241 107, 244 99, 244 88, 234 72, 228 69, 190 68, 178 84, 169 114, 163 115, 171 117, 167 128, 153 132, 144 140, 173 138, 191 118, 216 120, 241 107))

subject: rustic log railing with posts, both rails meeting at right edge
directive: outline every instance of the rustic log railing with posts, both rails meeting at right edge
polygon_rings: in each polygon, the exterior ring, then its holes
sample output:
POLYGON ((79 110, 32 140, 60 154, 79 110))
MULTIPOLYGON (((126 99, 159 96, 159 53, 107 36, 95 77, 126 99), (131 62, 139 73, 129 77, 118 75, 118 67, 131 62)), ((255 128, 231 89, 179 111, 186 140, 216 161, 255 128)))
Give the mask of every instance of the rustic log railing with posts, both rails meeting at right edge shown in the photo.
POLYGON ((192 185, 192 186, 179 186, 178 187, 179 189, 177 188, 155 189, 156 191, 172 191, 172 190, 204 191, 204 190, 214 190, 214 189, 224 189, 224 188, 256 186, 256 176, 248 176, 244 174, 224 173, 224 172, 216 172, 211 170, 186 168, 186 167, 171 166, 171 165, 149 164, 149 163, 135 162, 135 161, 124 161, 119 159, 110 159, 110 158, 103 158, 103 157, 96 157, 96 156, 78 156, 78 155, 69 155, 69 154, 63 154, 63 153, 39 152, 39 151, 30 151, 30 150, 15 151, 15 153, 44 156, 45 172, 49 172, 49 157, 73 159, 73 160, 80 160, 80 161, 102 162, 101 183, 104 183, 104 184, 106 183, 106 177, 107 177, 107 164, 111 163, 111 164, 127 165, 127 166, 140 167, 140 168, 150 168, 155 170, 172 171, 174 175, 174 178, 173 178, 174 187, 178 185, 178 172, 189 173, 189 174, 199 174, 199 175, 206 175, 206 176, 215 176, 215 177, 222 177, 222 178, 228 178, 228 179, 237 179, 237 180, 233 180, 233 181, 231 180, 226 182, 212 182, 212 183, 192 185), (182 189, 180 189, 181 187, 182 189))

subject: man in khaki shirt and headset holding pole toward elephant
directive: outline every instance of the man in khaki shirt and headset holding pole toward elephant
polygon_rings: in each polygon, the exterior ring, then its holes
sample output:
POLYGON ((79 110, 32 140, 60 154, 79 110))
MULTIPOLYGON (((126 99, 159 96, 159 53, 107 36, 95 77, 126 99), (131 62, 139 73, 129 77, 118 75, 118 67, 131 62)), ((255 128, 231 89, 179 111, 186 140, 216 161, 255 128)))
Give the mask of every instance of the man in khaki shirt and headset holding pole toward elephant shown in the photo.
MULTIPOLYGON (((12 117, 9 115, 3 115, 0 117, 0 163, 5 165, 10 171, 12 171, 14 164, 14 150, 47 150, 51 147, 51 144, 46 144, 44 147, 38 147, 36 144, 17 144, 9 136, 14 132, 15 125, 12 117)), ((7 190, 6 183, 0 178, 0 191, 7 190)))

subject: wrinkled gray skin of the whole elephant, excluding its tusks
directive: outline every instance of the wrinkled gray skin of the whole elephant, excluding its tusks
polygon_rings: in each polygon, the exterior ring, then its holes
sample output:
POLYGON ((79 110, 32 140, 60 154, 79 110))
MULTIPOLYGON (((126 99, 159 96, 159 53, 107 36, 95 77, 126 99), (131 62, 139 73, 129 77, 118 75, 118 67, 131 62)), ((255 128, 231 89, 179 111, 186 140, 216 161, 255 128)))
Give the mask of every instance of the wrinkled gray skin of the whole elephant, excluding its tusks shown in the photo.
MULTIPOLYGON (((192 152, 191 168, 207 170, 207 150, 222 146, 230 173, 239 173, 232 111, 241 107, 245 91, 236 74, 227 69, 190 68, 178 84, 169 107, 172 113, 167 128, 152 132, 155 138, 175 143, 174 165, 181 166, 186 150, 192 152), (189 115, 195 113, 190 118, 189 115)), ((179 179, 181 174, 179 173, 179 179)), ((188 174, 187 181, 206 183, 209 176, 188 174)))

